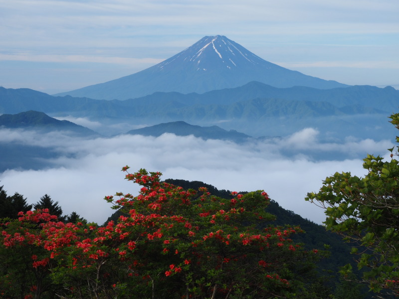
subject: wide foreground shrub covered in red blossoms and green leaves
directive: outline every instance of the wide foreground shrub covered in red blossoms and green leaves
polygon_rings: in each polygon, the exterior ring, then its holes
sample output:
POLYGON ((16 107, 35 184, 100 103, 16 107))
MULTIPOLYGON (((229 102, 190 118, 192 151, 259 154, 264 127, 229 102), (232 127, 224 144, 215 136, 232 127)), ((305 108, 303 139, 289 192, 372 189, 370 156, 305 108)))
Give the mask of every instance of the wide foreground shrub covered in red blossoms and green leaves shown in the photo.
POLYGON ((298 298, 319 254, 292 242, 300 228, 267 225, 266 192, 223 199, 128 169, 142 188, 105 197, 124 212, 115 223, 64 224, 38 210, 3 225, 2 250, 39 251, 29 269, 41 281, 23 286, 26 298, 298 298))

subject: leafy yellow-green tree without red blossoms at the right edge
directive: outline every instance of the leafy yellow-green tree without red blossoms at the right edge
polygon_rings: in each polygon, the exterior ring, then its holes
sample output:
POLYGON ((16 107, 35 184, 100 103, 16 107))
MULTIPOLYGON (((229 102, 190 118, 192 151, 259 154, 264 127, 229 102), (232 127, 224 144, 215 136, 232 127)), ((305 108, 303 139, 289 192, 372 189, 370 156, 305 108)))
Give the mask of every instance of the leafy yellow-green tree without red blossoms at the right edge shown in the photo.
MULTIPOLYGON (((399 129, 399 114, 391 117, 399 129)), ((399 138, 397 137, 397 142, 399 138)), ((325 209, 326 227, 339 233, 353 246, 358 255, 358 268, 364 273, 370 290, 380 293, 384 289, 393 294, 399 291, 399 163, 368 154, 363 167, 364 177, 350 172, 336 172, 323 181, 318 193, 308 193, 310 200, 325 209)), ((349 268, 343 274, 350 273, 349 268)))

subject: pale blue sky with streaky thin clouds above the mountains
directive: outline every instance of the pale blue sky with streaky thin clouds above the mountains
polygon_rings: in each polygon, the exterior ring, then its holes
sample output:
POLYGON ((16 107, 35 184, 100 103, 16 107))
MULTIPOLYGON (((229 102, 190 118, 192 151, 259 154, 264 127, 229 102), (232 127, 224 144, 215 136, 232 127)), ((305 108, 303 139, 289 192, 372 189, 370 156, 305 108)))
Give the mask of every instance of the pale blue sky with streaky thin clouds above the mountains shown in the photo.
POLYGON ((327 80, 399 88, 398 0, 0 0, 0 86, 130 75, 221 34, 327 80))

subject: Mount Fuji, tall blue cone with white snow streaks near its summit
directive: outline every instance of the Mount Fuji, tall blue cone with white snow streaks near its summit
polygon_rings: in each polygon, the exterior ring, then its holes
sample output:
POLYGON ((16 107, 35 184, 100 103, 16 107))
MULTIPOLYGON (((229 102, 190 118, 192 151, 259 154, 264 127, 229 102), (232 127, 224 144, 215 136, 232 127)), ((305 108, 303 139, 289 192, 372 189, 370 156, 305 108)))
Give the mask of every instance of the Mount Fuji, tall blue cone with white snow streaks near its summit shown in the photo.
POLYGON ((268 62, 222 35, 205 36, 175 56, 143 71, 105 83, 57 94, 92 99, 126 100, 154 92, 204 93, 251 81, 285 88, 346 87, 268 62))

